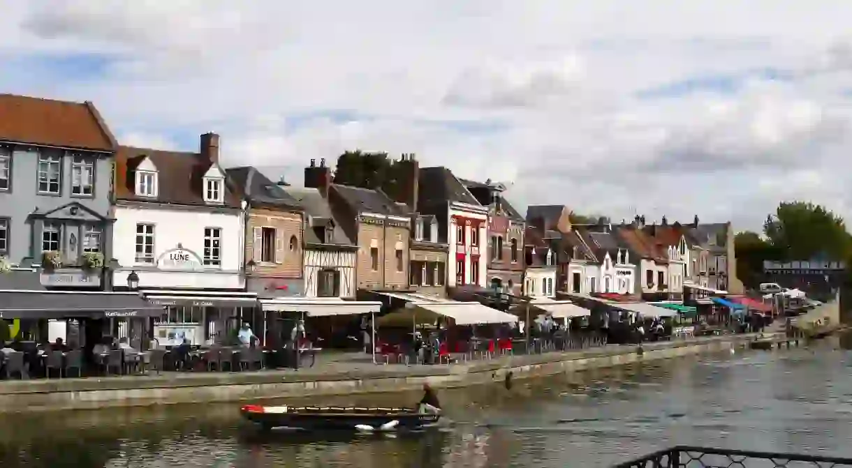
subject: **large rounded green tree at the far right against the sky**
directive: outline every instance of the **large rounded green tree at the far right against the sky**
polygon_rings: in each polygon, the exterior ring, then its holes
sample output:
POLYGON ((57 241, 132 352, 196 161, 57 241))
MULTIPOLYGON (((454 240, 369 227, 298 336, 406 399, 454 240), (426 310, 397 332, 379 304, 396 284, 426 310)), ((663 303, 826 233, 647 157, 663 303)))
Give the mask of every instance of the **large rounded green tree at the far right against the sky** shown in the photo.
POLYGON ((814 203, 780 203, 763 223, 763 234, 785 260, 807 260, 818 254, 841 260, 852 252, 852 237, 843 218, 814 203))

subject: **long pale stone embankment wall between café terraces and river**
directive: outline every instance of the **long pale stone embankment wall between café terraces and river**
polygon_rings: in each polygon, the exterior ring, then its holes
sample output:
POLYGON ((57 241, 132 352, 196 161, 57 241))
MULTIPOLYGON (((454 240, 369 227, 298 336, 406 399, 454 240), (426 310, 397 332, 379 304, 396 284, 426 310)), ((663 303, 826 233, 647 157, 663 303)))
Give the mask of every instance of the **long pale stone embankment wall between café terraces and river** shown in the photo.
MULTIPOLYGON (((782 334, 764 335, 763 338, 786 340, 782 334)), ((583 351, 506 356, 437 366, 337 363, 299 371, 3 381, 0 382, 0 413, 412 391, 425 382, 438 388, 454 388, 728 351, 746 348, 757 339, 757 334, 740 334, 642 346, 607 345, 583 351)))

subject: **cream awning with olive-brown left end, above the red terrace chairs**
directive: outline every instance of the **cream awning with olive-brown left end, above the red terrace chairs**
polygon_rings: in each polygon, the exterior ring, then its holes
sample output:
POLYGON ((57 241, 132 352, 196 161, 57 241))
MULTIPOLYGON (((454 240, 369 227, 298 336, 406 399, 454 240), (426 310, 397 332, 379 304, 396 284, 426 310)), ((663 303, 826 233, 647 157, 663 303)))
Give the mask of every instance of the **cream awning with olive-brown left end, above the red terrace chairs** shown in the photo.
POLYGON ((377 319, 377 325, 403 325, 407 323, 434 323, 446 317, 456 325, 484 325, 488 323, 514 323, 518 317, 481 305, 479 302, 457 300, 441 302, 412 302, 405 309, 394 311, 377 319))

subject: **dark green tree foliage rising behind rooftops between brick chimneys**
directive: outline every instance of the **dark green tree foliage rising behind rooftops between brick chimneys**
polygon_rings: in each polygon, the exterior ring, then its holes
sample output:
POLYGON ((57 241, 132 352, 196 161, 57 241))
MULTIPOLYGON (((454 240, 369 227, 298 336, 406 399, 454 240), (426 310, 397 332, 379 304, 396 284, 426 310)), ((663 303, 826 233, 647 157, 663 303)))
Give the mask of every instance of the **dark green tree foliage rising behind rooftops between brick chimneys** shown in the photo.
POLYGON ((391 198, 400 190, 400 162, 383 151, 345 151, 337 157, 334 183, 381 189, 391 198))

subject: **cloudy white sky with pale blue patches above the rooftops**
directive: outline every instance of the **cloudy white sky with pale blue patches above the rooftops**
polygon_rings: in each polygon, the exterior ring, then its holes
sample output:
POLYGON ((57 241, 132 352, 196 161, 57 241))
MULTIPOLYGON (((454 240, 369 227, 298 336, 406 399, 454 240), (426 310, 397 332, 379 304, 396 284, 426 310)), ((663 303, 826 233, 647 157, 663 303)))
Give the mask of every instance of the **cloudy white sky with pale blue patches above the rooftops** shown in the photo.
POLYGON ((227 165, 414 152, 519 208, 852 217, 852 2, 0 0, 0 92, 227 165))

